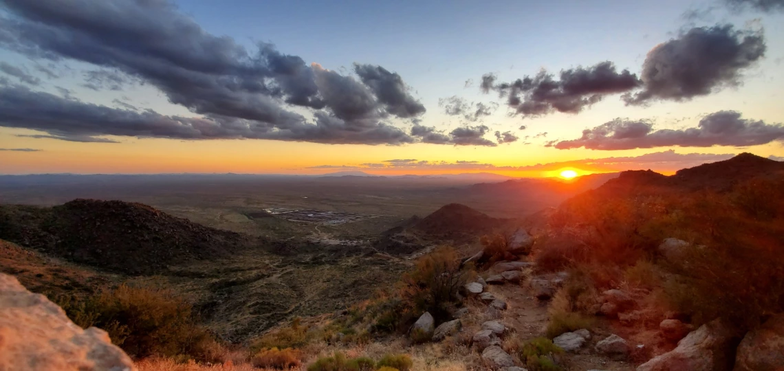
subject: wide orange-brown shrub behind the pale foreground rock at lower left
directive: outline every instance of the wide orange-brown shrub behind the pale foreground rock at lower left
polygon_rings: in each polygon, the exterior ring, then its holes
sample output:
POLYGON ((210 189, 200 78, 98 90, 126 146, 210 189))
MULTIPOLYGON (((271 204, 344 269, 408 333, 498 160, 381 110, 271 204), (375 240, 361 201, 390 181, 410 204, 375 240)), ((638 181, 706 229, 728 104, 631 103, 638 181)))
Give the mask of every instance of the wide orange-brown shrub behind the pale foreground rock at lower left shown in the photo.
POLYGON ((191 304, 169 290, 118 286, 90 297, 61 296, 53 300, 78 326, 96 326, 114 344, 135 358, 187 355, 210 360, 216 347, 197 324, 191 304))

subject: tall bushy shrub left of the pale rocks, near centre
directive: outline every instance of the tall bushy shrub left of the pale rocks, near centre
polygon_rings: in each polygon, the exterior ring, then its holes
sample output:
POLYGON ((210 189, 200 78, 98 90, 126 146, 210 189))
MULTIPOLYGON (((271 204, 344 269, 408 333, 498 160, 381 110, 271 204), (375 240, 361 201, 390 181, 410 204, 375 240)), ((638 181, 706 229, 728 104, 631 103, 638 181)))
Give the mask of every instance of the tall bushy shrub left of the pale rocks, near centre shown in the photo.
POLYGON ((452 247, 439 247, 419 261, 401 280, 401 304, 409 318, 430 312, 438 321, 448 317, 449 304, 459 301, 458 290, 465 284, 466 272, 452 247))

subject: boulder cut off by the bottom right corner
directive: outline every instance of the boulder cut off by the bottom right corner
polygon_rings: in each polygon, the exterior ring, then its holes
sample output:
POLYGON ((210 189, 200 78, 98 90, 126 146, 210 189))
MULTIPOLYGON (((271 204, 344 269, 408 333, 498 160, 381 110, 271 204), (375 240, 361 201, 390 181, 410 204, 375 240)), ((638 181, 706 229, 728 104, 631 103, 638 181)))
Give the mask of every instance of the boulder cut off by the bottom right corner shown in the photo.
POLYGON ((784 315, 774 315, 746 333, 738 346, 735 371, 784 370, 784 315))

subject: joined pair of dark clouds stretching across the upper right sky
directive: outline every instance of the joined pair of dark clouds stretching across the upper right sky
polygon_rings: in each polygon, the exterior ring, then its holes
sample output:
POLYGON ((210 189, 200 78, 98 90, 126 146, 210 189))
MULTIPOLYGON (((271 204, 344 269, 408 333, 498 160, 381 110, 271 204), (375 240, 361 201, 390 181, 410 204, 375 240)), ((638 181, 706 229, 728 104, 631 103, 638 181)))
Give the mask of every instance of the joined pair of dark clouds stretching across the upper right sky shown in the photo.
POLYGON ((765 50, 760 31, 736 31, 731 25, 694 27, 651 49, 639 78, 605 61, 561 70, 557 78, 542 70, 534 77, 499 83, 495 74, 485 74, 480 88, 498 92, 522 117, 579 113, 607 95, 621 93, 629 105, 683 101, 740 85, 742 72, 753 67, 765 50))

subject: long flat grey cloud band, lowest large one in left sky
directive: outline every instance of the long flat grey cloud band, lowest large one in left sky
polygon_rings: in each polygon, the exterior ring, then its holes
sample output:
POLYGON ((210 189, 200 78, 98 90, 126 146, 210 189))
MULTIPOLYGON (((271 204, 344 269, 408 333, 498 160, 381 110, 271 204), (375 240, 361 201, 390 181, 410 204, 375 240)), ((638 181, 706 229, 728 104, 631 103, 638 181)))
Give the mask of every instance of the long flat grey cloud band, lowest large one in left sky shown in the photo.
POLYGON ((321 143, 402 144, 413 142, 386 124, 358 127, 317 112, 315 124, 271 128, 259 121, 234 117, 164 116, 152 110, 132 111, 83 103, 20 86, 0 87, 0 124, 49 135, 39 138, 106 142, 100 135, 169 139, 276 139, 321 143))

